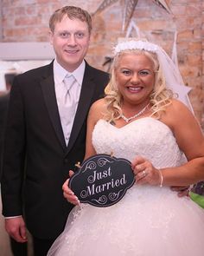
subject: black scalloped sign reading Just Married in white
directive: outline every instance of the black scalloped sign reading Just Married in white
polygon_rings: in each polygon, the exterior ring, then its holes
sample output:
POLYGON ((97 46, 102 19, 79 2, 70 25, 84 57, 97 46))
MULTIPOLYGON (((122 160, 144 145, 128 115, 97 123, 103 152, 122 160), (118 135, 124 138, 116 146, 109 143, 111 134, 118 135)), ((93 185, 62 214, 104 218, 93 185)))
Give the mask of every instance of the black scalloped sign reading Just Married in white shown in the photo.
POLYGON ((69 187, 80 202, 110 207, 121 200, 135 178, 131 162, 108 154, 96 154, 82 163, 69 187))

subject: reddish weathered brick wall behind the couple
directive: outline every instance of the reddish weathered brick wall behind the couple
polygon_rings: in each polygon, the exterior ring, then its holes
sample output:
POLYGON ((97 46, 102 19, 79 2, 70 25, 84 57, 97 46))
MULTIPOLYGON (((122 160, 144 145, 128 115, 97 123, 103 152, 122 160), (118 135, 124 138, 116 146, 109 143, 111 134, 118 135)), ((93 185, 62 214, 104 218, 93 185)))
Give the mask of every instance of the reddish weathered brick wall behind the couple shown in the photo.
MULTIPOLYGON (((57 8, 77 5, 94 13, 102 0, 0 0, 0 36, 2 42, 48 41, 48 19, 57 8)), ((114 1, 113 1, 114 2, 114 1)), ((139 0, 132 21, 142 37, 159 43, 171 55, 177 30, 177 54, 179 68, 185 84, 192 88, 189 96, 194 113, 204 128, 204 3, 202 0, 169 0, 172 14, 152 0, 139 0)), ((111 6, 93 16, 92 43, 87 60, 99 69, 105 56, 112 56, 112 45, 118 37, 125 36, 122 30, 124 1, 115 1, 111 6)), ((131 31, 137 36, 137 30, 131 31)))

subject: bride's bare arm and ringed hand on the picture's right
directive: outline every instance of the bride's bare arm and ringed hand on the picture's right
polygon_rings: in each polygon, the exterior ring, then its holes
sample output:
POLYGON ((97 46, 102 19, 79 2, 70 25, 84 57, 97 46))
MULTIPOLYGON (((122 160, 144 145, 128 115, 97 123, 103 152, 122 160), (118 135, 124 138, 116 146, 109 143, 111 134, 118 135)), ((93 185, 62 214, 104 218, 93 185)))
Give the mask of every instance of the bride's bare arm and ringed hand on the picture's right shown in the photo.
POLYGON ((204 181, 204 136, 194 115, 182 102, 173 101, 161 121, 171 128, 188 162, 180 167, 158 170, 149 160, 136 157, 132 169, 137 175, 137 183, 181 187, 204 181))

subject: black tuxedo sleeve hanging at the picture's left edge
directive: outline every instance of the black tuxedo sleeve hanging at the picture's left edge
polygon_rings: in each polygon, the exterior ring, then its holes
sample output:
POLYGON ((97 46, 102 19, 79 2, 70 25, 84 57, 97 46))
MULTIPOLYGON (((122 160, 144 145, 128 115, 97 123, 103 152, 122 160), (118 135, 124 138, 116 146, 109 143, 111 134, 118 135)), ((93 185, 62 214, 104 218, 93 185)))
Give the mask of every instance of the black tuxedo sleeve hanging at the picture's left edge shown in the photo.
POLYGON ((3 147, 3 176, 1 182, 3 215, 22 214, 22 185, 25 163, 25 118, 22 91, 18 77, 10 91, 10 103, 3 147))

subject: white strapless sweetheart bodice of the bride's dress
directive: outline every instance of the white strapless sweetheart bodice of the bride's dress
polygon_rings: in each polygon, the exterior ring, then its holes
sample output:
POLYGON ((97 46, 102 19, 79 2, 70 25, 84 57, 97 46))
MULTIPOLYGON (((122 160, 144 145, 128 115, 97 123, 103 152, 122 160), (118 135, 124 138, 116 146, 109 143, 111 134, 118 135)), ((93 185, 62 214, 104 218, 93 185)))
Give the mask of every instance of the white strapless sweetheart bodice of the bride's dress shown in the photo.
POLYGON ((98 154, 112 154, 132 161, 137 155, 155 167, 181 165, 184 155, 170 128, 162 121, 144 117, 116 128, 99 120, 93 130, 92 144, 98 154))

